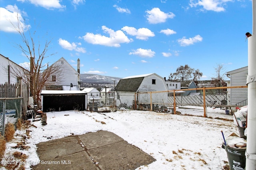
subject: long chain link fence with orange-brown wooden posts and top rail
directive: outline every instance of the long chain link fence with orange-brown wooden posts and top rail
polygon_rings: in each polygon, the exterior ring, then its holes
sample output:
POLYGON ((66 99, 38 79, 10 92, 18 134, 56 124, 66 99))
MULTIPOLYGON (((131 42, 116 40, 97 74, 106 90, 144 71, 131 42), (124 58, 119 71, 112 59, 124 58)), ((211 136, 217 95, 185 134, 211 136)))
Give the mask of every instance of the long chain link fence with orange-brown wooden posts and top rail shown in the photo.
POLYGON ((247 105, 247 86, 194 88, 136 93, 136 109, 233 119, 247 105))

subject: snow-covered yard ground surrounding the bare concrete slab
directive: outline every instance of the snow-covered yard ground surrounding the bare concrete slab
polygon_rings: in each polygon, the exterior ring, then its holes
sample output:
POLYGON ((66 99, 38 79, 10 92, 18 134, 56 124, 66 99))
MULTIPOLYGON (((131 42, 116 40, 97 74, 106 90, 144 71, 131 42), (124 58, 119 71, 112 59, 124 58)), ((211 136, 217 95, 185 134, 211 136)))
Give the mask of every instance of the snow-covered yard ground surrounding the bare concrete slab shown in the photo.
MULTIPOLYGON (((105 130, 115 133, 128 143, 142 149, 156 159, 137 169, 145 170, 222 170, 228 161, 221 148, 223 138, 231 133, 239 135, 233 121, 189 115, 173 115, 151 111, 124 110, 110 113, 60 111, 47 113, 47 125, 32 122, 28 150, 13 149, 26 130, 16 131, 15 139, 7 143, 9 151, 28 155, 26 170, 39 161, 36 144, 69 135, 105 130)), ((0 168, 4 169, 4 168, 0 168)))

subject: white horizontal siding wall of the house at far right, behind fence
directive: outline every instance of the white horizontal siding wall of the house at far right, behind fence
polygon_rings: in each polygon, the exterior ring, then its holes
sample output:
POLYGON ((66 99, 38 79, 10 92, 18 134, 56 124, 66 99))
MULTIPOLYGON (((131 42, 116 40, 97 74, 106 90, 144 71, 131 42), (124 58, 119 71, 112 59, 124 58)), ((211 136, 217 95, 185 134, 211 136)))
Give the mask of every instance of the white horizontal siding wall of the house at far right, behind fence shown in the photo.
MULTIPOLYGON (((230 75, 230 85, 231 86, 246 86, 248 70, 242 70, 240 72, 230 75)), ((235 105, 243 100, 248 99, 247 88, 232 88, 231 89, 231 105, 235 105)))

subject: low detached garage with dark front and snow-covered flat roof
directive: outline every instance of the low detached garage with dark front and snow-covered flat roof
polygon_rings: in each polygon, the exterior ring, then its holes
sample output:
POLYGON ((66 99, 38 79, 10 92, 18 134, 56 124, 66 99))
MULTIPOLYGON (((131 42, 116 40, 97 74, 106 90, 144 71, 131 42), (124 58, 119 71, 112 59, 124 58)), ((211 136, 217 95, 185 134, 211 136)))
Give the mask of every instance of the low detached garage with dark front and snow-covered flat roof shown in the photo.
POLYGON ((42 90, 42 111, 86 110, 87 93, 80 90, 42 90))

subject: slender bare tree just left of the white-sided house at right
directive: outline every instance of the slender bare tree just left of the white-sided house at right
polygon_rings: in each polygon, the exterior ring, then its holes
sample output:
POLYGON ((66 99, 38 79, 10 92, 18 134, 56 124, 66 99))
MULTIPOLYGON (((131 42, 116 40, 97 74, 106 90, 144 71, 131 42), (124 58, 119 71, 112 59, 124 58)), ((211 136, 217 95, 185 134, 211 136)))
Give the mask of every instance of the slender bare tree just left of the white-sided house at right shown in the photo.
POLYGON ((212 80, 215 82, 217 87, 222 87, 224 82, 224 77, 226 76, 226 69, 223 67, 223 64, 217 64, 217 67, 214 67, 215 74, 212 77, 212 80))

